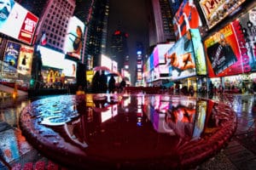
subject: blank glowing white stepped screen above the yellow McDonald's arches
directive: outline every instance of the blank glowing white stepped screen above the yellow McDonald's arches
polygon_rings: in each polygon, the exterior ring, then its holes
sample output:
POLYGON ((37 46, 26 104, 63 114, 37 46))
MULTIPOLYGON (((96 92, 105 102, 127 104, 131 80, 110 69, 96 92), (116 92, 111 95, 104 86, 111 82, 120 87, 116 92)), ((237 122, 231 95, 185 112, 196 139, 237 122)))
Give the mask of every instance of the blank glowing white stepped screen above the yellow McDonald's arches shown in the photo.
POLYGON ((53 49, 38 46, 42 58, 42 65, 61 69, 66 77, 76 77, 77 63, 65 59, 65 54, 61 54, 53 49))

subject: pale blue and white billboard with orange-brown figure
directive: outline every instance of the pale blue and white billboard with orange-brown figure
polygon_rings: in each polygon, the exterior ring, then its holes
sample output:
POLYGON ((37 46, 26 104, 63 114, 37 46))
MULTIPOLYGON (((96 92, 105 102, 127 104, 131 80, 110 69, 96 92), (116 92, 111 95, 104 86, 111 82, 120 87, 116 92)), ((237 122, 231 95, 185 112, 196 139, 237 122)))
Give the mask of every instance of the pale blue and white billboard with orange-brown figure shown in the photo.
POLYGON ((195 53, 189 32, 167 51, 166 59, 167 64, 170 65, 169 73, 172 80, 196 75, 195 53))

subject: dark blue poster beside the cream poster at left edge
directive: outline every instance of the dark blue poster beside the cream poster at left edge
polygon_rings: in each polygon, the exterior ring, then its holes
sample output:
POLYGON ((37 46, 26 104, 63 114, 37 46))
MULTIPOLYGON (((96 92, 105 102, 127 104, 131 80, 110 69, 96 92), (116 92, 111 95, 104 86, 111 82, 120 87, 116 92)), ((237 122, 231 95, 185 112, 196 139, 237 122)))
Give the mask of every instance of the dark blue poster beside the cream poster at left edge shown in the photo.
POLYGON ((3 71, 13 72, 17 71, 18 59, 20 55, 20 43, 7 42, 5 52, 3 55, 3 71))

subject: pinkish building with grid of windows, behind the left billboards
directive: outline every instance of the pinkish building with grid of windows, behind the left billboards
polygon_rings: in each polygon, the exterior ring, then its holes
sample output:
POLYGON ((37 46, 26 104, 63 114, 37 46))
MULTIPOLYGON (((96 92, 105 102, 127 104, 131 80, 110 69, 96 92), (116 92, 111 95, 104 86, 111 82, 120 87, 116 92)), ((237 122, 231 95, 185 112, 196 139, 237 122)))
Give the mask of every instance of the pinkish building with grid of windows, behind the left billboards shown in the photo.
POLYGON ((47 47, 63 52, 67 26, 73 16, 75 0, 49 0, 45 6, 38 24, 37 42, 43 33, 47 37, 47 47))

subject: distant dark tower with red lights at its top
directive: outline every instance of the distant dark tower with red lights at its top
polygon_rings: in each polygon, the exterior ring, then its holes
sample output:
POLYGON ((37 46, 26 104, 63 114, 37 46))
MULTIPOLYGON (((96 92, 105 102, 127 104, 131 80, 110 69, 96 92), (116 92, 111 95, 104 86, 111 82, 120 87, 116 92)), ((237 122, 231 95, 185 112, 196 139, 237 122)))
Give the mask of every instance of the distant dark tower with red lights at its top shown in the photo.
POLYGON ((118 29, 113 32, 110 44, 111 58, 119 63, 119 70, 124 68, 129 60, 127 38, 128 33, 121 31, 121 26, 119 24, 118 29))

